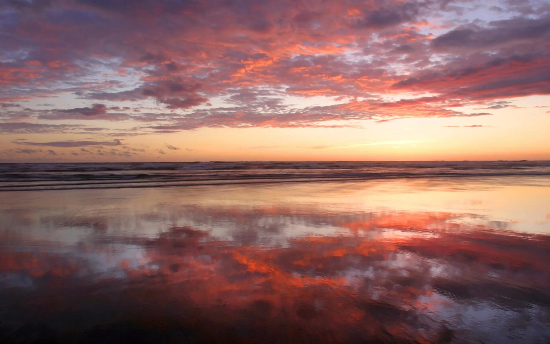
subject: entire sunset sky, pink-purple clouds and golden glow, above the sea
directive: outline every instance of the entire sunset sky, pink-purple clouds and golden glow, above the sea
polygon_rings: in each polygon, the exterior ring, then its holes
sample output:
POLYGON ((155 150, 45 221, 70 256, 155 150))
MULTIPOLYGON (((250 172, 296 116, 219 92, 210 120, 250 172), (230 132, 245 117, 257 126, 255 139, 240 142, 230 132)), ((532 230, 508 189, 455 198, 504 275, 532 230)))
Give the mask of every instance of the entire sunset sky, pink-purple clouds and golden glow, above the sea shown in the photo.
POLYGON ((550 160, 550 2, 0 0, 0 162, 550 160))

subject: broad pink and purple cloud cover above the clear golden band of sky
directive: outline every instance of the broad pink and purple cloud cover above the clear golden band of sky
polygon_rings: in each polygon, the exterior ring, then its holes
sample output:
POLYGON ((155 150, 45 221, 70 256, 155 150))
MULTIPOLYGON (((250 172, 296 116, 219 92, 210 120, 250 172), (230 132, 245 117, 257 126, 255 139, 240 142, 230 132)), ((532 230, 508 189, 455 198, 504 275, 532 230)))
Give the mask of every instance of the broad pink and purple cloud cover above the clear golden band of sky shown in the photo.
POLYGON ((0 5, 0 132, 481 116, 513 106, 506 99, 550 94, 549 23, 548 3, 521 0, 9 0, 0 5), (327 101, 295 104, 313 96, 327 101), (20 104, 43 97, 74 107, 20 104), (484 110, 456 110, 465 106, 484 110))

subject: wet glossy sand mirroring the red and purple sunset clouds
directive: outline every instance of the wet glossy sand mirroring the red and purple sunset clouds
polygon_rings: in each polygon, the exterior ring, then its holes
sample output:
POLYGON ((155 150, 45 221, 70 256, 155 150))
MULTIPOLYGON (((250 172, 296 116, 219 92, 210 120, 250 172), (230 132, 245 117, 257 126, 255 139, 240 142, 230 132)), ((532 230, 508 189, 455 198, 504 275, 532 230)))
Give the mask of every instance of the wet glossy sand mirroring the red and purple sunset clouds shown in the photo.
POLYGON ((5 192, 5 342, 548 342, 550 178, 5 192))

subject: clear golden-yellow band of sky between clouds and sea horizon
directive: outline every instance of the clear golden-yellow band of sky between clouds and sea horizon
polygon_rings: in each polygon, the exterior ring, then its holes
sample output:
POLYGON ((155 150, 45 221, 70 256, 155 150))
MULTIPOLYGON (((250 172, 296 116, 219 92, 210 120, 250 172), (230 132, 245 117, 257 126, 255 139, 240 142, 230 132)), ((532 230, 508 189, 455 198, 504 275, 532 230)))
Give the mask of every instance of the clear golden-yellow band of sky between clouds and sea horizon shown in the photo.
MULTIPOLYGON (((532 98, 533 102, 550 106, 542 97, 532 98)), ((550 116, 544 110, 505 108, 475 119, 363 121, 364 128, 205 128, 124 138, 123 143, 145 150, 139 157, 91 159, 81 148, 54 148, 58 155, 46 156, 43 161, 548 160, 550 136, 546 128, 550 128, 550 116), (521 113, 529 113, 523 115, 528 120, 518 121, 521 113), (486 127, 463 127, 472 123, 486 127), (167 145, 179 149, 170 150, 167 145), (61 152, 66 153, 62 156, 61 152)), ((26 148, 10 143, 21 136, 3 135, 3 147, 26 148)), ((66 134, 27 134, 23 138, 37 142, 83 139, 81 135, 66 134)), ((98 135, 86 138, 112 139, 98 135)))

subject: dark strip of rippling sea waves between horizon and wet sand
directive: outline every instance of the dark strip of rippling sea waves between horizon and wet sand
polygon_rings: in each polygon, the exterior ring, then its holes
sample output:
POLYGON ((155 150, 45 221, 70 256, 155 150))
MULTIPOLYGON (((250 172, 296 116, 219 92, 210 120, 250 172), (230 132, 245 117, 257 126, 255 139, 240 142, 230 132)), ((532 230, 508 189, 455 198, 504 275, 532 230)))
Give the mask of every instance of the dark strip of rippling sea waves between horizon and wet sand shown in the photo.
POLYGON ((550 161, 3 163, 0 191, 550 175, 550 161))

